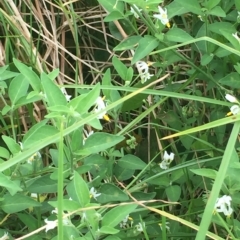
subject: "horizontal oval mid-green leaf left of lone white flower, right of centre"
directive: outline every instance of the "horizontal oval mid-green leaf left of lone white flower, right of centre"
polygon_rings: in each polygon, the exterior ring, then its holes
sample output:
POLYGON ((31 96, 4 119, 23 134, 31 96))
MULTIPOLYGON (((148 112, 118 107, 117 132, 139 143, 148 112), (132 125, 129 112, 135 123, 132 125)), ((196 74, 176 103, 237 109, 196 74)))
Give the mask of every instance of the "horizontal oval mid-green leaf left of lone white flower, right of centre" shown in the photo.
POLYGON ((142 170, 147 166, 147 164, 143 162, 140 158, 131 154, 125 155, 120 160, 118 160, 117 163, 122 168, 132 169, 132 170, 137 170, 137 169, 142 170))

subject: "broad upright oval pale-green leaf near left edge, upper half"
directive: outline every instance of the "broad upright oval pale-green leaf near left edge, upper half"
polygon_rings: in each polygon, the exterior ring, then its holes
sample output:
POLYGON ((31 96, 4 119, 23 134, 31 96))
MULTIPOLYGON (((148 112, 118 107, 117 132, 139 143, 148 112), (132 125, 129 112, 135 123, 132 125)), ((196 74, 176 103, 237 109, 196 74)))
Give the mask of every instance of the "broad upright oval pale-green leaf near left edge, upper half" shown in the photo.
POLYGON ((19 74, 13 78, 8 89, 8 95, 12 102, 12 105, 15 105, 18 99, 27 94, 28 87, 29 83, 22 74, 19 74))

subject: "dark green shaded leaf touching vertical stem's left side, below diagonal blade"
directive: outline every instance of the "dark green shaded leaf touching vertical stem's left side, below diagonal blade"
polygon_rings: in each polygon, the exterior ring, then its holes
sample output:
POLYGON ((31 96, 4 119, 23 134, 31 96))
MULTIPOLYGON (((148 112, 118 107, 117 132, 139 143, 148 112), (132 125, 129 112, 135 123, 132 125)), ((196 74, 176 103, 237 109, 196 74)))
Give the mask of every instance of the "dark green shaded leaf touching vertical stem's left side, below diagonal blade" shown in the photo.
POLYGON ((55 193, 57 192, 57 181, 50 178, 50 174, 32 180, 33 183, 27 188, 31 193, 55 193))

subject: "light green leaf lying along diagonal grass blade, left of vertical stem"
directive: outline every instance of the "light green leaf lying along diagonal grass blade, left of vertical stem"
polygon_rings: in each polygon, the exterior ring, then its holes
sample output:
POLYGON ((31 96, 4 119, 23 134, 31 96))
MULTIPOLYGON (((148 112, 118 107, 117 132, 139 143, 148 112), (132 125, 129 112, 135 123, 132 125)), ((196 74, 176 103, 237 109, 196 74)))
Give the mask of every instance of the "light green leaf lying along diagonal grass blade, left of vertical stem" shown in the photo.
POLYGON ((58 130, 51 126, 46 125, 48 119, 45 119, 29 129, 29 131, 23 137, 23 147, 24 149, 31 148, 39 141, 43 141, 44 138, 51 137, 58 133, 58 130))

